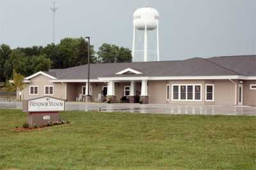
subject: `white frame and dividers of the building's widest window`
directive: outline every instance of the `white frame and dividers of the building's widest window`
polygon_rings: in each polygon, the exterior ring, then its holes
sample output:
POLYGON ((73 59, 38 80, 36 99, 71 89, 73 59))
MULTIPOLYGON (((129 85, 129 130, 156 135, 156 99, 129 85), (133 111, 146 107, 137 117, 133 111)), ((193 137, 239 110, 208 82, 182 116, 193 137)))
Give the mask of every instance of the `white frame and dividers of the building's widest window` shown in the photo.
POLYGON ((202 101, 202 84, 172 84, 172 89, 170 90, 172 93, 172 101, 196 101, 200 102, 202 101), (186 99, 180 99, 180 86, 186 86, 186 99), (179 87, 179 99, 173 99, 173 86, 179 87), (188 99, 188 86, 193 86, 193 99, 188 99), (200 100, 195 99, 195 87, 200 86, 200 100))

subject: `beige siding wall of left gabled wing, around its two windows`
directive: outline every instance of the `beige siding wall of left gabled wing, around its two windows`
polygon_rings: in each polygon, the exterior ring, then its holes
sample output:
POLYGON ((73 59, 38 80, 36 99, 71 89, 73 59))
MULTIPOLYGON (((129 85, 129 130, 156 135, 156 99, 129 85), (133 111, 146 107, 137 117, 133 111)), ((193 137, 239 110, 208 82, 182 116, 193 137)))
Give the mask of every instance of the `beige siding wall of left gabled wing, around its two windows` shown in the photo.
POLYGON ((65 99, 65 83, 51 83, 51 78, 44 75, 38 75, 31 79, 31 83, 25 83, 24 89, 22 90, 22 99, 34 99, 42 97, 44 95, 44 89, 47 85, 54 86, 54 95, 52 97, 65 99), (29 86, 38 86, 38 95, 29 95, 29 86))

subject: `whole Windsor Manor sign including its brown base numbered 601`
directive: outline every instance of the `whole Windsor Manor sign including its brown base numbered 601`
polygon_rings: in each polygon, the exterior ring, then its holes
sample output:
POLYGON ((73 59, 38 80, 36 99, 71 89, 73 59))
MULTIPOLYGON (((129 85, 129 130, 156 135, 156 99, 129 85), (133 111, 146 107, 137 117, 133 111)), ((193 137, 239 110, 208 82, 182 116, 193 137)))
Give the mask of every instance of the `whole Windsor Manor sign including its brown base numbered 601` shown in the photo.
POLYGON ((65 110, 65 101, 54 97, 38 97, 23 102, 23 111, 28 113, 28 124, 39 126, 60 120, 59 111, 65 110))

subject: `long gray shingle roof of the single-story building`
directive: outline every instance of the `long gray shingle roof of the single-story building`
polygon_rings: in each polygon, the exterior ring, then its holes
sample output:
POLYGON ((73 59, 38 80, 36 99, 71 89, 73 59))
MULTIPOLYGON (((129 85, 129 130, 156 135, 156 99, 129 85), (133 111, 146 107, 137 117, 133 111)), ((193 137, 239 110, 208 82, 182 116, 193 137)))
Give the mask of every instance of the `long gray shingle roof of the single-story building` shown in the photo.
MULTIPOLYGON (((79 80, 87 78, 88 66, 53 69, 48 72, 61 80, 79 80)), ((125 62, 91 64, 90 77, 113 76, 256 76, 256 55, 212 57, 209 59, 193 58, 187 60, 159 62, 125 62), (131 68, 143 74, 116 75, 131 68)))

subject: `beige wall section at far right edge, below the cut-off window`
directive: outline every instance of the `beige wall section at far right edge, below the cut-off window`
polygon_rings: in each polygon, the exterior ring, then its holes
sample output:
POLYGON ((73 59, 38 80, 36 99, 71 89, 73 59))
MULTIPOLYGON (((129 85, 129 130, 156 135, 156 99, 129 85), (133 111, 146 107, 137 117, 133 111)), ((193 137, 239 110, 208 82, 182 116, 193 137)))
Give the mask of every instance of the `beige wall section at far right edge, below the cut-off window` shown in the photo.
POLYGON ((243 104, 256 106, 256 90, 250 90, 250 85, 256 84, 256 80, 247 80, 243 83, 243 104))

